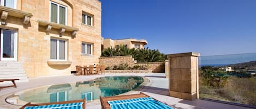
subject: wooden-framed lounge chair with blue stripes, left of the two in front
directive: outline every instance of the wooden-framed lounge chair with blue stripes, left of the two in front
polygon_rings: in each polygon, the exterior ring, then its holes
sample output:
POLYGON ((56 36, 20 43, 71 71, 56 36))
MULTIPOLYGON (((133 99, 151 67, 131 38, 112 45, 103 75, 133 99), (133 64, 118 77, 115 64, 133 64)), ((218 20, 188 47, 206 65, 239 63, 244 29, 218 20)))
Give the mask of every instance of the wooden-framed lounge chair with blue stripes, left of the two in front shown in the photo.
POLYGON ((83 100, 71 100, 71 101, 61 101, 61 102, 48 102, 48 103, 42 103, 42 104, 31 104, 31 102, 28 102, 26 105, 23 105, 20 109, 24 109, 24 108, 52 108, 52 107, 55 107, 55 108, 65 108, 65 106, 67 106, 66 108, 68 107, 72 107, 72 106, 75 107, 78 107, 78 106, 82 106, 82 109, 85 109, 85 106, 86 106, 86 98, 84 98, 83 100), (76 103, 76 104, 74 104, 76 103), (80 103, 80 104, 77 104, 77 103, 80 103), (59 105, 59 104, 67 104, 67 105, 59 105), (39 107, 39 106, 44 106, 44 107, 39 107))

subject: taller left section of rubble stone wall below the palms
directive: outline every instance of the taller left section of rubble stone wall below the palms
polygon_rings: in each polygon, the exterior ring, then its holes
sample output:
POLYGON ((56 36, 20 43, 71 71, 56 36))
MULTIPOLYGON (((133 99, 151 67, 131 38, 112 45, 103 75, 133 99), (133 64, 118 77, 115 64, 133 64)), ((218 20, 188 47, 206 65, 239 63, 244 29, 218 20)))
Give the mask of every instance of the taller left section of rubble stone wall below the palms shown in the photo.
POLYGON ((99 57, 99 64, 105 65, 105 67, 119 66, 123 63, 127 63, 129 67, 133 67, 136 61, 132 56, 99 57))

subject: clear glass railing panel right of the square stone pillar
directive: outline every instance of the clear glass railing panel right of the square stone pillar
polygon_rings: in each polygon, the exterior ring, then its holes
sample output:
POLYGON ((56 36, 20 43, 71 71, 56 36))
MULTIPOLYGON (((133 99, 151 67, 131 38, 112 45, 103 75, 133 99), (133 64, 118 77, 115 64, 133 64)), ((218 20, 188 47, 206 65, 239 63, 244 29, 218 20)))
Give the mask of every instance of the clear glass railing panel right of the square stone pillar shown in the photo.
POLYGON ((199 69, 200 98, 255 107, 256 53, 201 56, 199 69))

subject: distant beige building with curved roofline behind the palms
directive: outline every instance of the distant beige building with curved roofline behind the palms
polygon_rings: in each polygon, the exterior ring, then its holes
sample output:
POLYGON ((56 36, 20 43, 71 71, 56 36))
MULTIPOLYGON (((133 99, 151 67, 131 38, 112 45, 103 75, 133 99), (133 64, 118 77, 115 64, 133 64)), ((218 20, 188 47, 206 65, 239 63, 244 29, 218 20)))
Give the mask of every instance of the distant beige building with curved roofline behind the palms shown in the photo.
POLYGON ((147 41, 141 40, 141 39, 120 39, 120 40, 104 39, 104 49, 109 47, 115 48, 121 45, 126 46, 128 48, 142 49, 146 44, 147 44, 147 41))

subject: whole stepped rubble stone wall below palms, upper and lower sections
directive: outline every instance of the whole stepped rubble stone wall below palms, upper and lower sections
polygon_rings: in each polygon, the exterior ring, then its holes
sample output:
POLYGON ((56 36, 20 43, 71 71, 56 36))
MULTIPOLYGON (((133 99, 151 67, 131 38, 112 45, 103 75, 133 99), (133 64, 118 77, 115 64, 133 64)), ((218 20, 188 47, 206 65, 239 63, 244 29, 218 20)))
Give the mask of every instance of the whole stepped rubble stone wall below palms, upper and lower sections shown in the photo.
POLYGON ((164 62, 136 62, 132 56, 112 56, 112 57, 99 57, 99 64, 105 67, 119 66, 120 64, 127 63, 129 67, 135 65, 147 66, 153 73, 165 72, 164 62))

